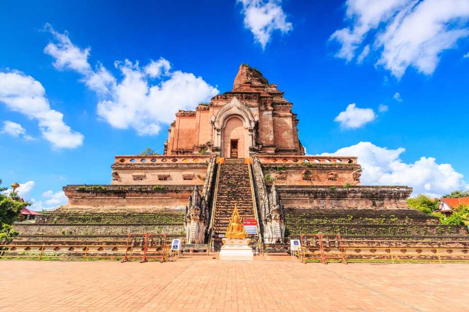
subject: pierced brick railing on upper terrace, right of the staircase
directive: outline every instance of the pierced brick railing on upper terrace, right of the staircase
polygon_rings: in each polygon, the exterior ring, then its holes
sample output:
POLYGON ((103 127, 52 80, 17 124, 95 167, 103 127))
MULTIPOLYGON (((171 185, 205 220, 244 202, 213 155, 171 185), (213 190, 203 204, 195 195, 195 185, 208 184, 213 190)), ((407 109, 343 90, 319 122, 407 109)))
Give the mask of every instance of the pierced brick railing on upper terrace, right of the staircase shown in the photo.
POLYGON ((358 164, 356 156, 256 156, 261 163, 278 163, 278 164, 358 164))

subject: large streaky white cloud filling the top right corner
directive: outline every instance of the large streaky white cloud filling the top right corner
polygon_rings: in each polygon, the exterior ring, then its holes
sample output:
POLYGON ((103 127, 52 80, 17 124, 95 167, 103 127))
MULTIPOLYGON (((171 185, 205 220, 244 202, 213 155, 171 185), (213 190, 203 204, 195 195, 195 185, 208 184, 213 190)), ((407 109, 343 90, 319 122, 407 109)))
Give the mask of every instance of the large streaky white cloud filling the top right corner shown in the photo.
POLYGON ((377 65, 398 79, 409 66, 431 75, 440 54, 469 36, 467 0, 347 0, 345 17, 349 26, 330 37, 341 44, 336 56, 350 61, 368 37, 377 65))

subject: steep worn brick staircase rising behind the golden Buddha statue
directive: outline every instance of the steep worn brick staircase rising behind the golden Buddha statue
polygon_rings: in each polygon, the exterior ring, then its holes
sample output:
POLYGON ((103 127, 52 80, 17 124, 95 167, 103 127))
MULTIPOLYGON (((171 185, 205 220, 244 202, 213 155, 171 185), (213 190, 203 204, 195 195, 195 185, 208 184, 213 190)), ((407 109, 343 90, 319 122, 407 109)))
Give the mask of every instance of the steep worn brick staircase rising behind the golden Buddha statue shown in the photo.
POLYGON ((212 229, 214 250, 219 250, 222 245, 221 238, 226 233, 235 204, 243 220, 256 219, 249 165, 244 164, 243 158, 225 158, 225 163, 219 166, 212 229))

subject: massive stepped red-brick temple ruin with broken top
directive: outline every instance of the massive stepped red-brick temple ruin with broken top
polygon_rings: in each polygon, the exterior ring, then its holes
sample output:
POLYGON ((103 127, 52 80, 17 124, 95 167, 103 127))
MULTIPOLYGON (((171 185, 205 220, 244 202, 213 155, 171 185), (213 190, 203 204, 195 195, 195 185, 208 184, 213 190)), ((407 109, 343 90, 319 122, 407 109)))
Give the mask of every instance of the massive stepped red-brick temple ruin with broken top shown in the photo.
POLYGON ((216 251, 235 204, 257 221, 252 236, 265 250, 299 234, 365 247, 466 239, 466 227, 410 209, 411 188, 362 186, 357 157, 305 155, 292 106, 241 64, 231 91, 176 114, 163 155, 115 156, 109 185, 65 186, 68 203, 16 224, 16 241, 110 244, 148 232, 216 251))

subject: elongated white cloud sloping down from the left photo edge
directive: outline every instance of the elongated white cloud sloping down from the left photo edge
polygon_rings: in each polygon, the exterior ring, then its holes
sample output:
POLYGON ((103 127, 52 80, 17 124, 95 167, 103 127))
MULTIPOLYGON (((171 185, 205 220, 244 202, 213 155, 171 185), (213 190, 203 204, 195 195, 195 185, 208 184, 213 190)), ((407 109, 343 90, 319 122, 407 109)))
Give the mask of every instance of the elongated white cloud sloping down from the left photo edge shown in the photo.
POLYGON ((64 123, 64 115, 50 108, 43 85, 21 72, 0 73, 0 102, 15 112, 39 122, 43 137, 53 148, 82 145, 83 135, 64 123))

